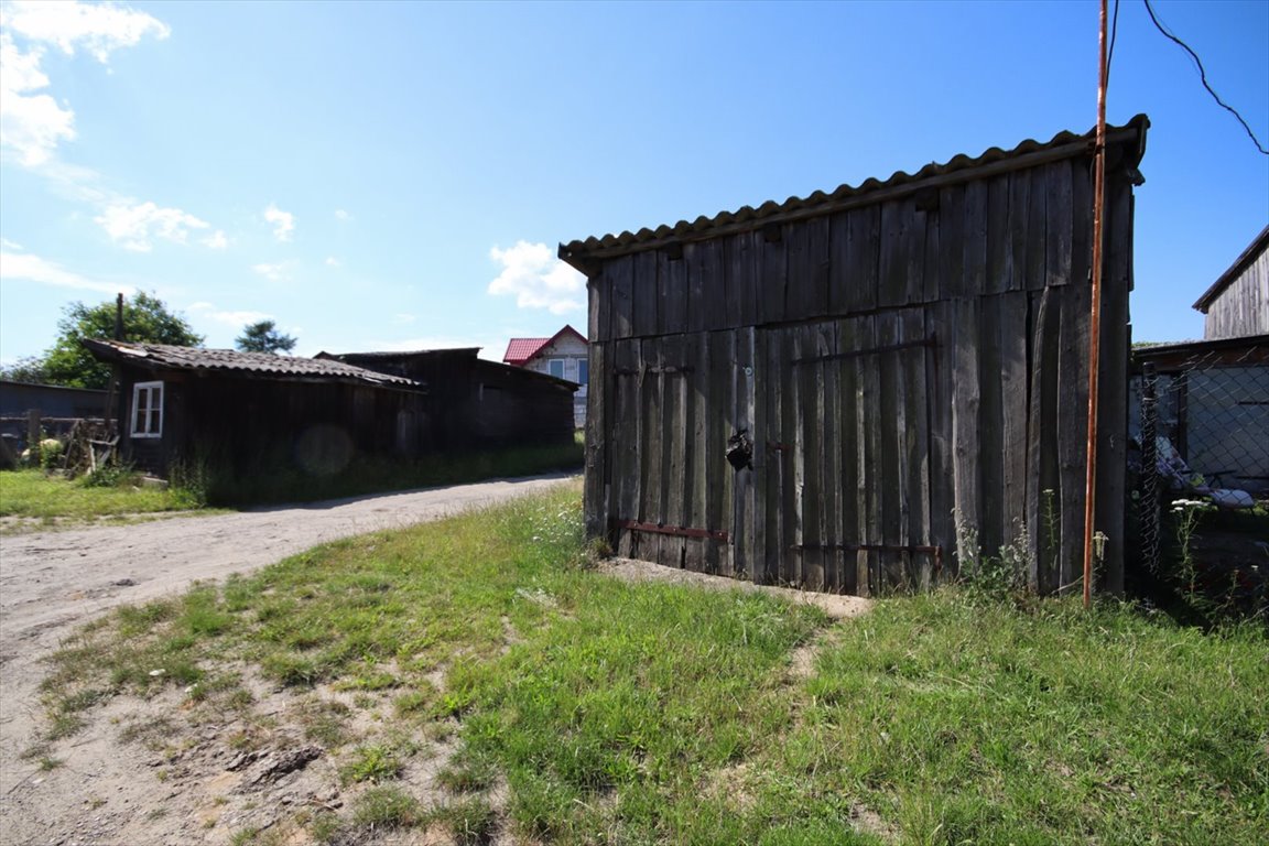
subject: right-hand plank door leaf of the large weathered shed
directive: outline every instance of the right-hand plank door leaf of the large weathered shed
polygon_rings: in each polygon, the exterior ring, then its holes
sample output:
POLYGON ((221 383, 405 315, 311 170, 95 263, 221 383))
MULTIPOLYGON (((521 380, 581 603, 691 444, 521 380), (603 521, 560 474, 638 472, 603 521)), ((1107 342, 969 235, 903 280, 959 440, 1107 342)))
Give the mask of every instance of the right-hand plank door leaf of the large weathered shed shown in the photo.
POLYGON ((763 332, 766 581, 858 595, 929 582, 929 374, 917 309, 763 332))

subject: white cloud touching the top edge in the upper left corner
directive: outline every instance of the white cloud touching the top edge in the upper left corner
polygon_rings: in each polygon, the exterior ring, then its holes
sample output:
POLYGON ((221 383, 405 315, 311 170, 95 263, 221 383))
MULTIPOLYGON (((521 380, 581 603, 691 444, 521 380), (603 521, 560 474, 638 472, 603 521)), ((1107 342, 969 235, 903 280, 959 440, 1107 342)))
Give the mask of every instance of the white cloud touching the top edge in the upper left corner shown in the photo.
POLYGON ((115 3, 49 3, 9 0, 0 8, 0 24, 29 41, 55 44, 67 56, 82 47, 103 65, 110 53, 135 47, 146 36, 164 39, 168 24, 115 3))

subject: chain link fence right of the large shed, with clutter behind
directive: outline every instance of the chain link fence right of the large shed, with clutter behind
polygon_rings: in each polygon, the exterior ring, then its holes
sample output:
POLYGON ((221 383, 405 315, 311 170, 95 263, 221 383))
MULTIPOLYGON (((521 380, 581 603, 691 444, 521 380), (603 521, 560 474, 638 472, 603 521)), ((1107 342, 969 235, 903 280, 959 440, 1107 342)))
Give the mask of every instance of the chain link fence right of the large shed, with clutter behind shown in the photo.
POLYGON ((1134 350, 1129 473, 1146 578, 1264 614, 1269 345, 1258 340, 1134 350))

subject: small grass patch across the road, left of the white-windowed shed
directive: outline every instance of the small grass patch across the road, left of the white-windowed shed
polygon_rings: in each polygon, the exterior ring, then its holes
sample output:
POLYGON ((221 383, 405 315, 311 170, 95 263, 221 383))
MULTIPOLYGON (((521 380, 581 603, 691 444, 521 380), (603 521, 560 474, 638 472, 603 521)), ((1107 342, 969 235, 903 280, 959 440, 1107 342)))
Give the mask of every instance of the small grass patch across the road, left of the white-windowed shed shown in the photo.
POLYGON ((96 517, 126 517, 162 511, 187 511, 198 502, 185 491, 143 488, 122 483, 89 486, 43 471, 0 472, 0 516, 32 517, 55 524, 88 523, 96 517))

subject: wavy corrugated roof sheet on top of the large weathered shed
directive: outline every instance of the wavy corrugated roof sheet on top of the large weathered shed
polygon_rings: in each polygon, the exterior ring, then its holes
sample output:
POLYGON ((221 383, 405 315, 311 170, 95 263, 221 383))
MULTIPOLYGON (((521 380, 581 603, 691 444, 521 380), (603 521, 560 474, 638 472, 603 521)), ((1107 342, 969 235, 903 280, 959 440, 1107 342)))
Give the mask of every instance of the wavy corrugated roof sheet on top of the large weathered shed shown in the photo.
MULTIPOLYGON (((1129 133, 1136 134, 1140 138, 1137 152, 1137 157, 1140 160, 1141 151, 1145 148, 1145 131, 1148 127, 1150 119, 1145 114, 1138 114, 1123 127, 1107 127, 1107 132, 1108 138, 1112 133, 1117 133, 1121 137, 1129 133)), ((945 176, 958 171, 975 170, 995 162, 1025 156, 1028 153, 1053 151, 1067 145, 1088 143, 1091 142, 1094 137, 1095 133, 1091 131, 1084 134, 1060 132, 1047 142, 1028 138, 1013 150, 991 147, 982 155, 972 159, 962 153, 942 165, 929 164, 915 174, 900 170, 884 181, 867 179, 859 185, 840 185, 831 193, 815 192, 810 197, 805 198, 789 197, 783 203, 768 200, 758 208, 745 205, 736 212, 720 212, 713 217, 700 216, 695 221, 679 221, 674 226, 662 225, 655 230, 642 228, 638 232, 626 231, 621 235, 605 235, 603 237, 593 236, 585 240, 572 241, 571 244, 561 244, 560 257, 570 264, 575 261, 582 263, 588 257, 588 254, 594 254, 596 251, 621 255, 626 252, 636 252, 645 247, 650 249, 652 245, 662 241, 673 241, 675 238, 685 238, 688 236, 707 237, 711 231, 721 230, 723 227, 756 228, 758 226, 761 226, 763 222, 774 217, 784 217, 798 212, 813 213, 819 207, 832 205, 834 203, 839 203, 845 199, 864 197, 883 189, 915 185, 916 183, 921 183, 935 176, 945 176)))

